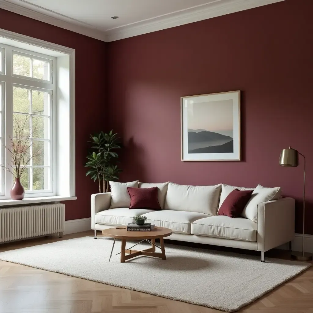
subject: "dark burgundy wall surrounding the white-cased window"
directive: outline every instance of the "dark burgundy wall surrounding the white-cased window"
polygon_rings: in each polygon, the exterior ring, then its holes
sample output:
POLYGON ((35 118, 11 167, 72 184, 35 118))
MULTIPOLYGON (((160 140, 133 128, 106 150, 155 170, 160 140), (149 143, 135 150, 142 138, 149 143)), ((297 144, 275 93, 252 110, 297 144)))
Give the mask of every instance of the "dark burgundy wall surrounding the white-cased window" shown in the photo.
POLYGON ((84 162, 89 134, 105 127, 106 43, 2 9, 0 28, 75 49, 77 200, 64 202, 65 219, 90 217, 90 195, 99 191, 97 184, 85 176, 84 162))

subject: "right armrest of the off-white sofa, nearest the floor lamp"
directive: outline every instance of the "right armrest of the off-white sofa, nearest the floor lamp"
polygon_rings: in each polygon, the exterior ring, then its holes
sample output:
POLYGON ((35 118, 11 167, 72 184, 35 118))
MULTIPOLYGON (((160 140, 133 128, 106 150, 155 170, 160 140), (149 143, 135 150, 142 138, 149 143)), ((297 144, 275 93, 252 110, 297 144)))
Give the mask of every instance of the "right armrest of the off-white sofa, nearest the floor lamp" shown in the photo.
POLYGON ((257 246, 267 251, 295 236, 295 199, 282 198, 258 204, 257 246))

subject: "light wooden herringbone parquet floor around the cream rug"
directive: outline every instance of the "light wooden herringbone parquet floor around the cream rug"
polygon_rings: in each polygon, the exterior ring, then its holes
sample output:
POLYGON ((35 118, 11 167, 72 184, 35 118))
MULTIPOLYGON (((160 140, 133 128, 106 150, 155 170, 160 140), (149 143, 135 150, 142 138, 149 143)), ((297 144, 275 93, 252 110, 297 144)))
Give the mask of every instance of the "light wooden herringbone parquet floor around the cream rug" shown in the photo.
MULTIPOLYGON (((65 235, 63 239, 44 237, 1 244, 0 251, 86 235, 93 234, 84 232, 65 235)), ((288 252, 282 250, 269 251, 266 256, 289 258, 288 252)), ((0 261, 0 312, 216 313, 221 311, 0 261)), ((313 268, 238 312, 313 313, 313 268)))

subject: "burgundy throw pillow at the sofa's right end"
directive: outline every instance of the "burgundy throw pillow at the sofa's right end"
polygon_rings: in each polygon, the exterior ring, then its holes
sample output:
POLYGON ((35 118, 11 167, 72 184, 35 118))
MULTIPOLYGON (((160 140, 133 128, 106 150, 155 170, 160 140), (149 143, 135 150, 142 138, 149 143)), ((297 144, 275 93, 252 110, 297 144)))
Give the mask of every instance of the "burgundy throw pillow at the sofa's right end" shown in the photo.
POLYGON ((239 217, 251 198, 253 190, 235 189, 226 197, 217 215, 226 215, 231 218, 239 217))

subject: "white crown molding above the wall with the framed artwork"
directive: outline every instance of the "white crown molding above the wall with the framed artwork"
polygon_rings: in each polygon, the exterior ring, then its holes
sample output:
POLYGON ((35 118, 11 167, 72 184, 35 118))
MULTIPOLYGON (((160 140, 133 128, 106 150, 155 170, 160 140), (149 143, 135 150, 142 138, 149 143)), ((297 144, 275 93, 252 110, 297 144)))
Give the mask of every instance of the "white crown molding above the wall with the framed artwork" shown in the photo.
POLYGON ((151 33, 281 1, 285 0, 221 0, 183 12, 107 30, 107 41, 151 33))

